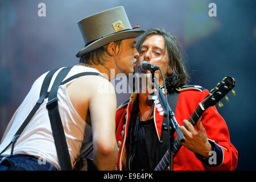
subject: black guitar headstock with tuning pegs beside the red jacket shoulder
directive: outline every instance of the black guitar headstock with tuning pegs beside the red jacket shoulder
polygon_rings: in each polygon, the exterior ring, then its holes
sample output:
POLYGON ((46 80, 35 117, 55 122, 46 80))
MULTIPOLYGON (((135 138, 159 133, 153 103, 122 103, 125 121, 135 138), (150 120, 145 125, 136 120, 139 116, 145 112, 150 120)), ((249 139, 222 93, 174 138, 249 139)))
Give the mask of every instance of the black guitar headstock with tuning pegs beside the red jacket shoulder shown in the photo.
MULTIPOLYGON (((233 96, 235 96, 234 90, 232 90, 236 86, 236 81, 234 78, 228 76, 224 77, 221 82, 219 82, 215 88, 210 90, 210 93, 205 98, 205 100, 202 102, 205 109, 207 109, 210 106, 216 105, 223 97, 225 97, 226 101, 229 101, 229 98, 226 96, 227 93, 232 91, 233 96)), ((223 104, 219 102, 219 106, 222 107, 223 104)))

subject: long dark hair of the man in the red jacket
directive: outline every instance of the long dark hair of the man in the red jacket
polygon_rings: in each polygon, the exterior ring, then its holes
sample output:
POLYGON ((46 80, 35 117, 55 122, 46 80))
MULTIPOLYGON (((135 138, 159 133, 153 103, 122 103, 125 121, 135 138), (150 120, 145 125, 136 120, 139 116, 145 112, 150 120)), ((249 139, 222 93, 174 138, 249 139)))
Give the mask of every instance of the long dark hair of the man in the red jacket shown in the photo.
POLYGON ((183 49, 177 42, 174 36, 170 33, 160 30, 159 28, 150 28, 143 34, 142 38, 136 44, 136 48, 139 53, 141 53, 141 46, 144 40, 150 35, 160 35, 163 36, 165 41, 164 50, 167 48, 170 68, 172 68, 171 74, 167 73, 166 76, 166 88, 168 93, 175 92, 176 88, 184 86, 190 80, 187 70, 184 65, 184 60, 181 58, 181 51, 183 49))

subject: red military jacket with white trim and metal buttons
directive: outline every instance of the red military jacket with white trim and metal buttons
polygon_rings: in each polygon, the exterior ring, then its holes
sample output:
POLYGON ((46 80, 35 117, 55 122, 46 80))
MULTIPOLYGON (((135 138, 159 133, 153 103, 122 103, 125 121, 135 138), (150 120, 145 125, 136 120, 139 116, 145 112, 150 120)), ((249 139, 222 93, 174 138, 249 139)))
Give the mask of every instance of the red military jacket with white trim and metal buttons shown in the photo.
MULTIPOLYGON (((185 86, 178 89, 179 98, 177 100, 175 118, 179 125, 184 125, 183 119, 191 117, 191 114, 199 105, 199 102, 203 101, 208 96, 209 91, 203 89, 200 86, 185 86)), ((134 101, 137 97, 136 93, 133 93, 130 100, 118 107, 115 116, 116 122, 116 139, 118 144, 118 163, 117 170, 124 169, 126 165, 126 148, 125 142, 127 138, 127 130, 129 127, 130 113, 133 108, 134 101)), ((161 127, 162 127, 163 115, 159 114, 154 108, 154 123, 156 126, 156 133, 160 139, 161 127)), ((228 127, 224 119, 218 113, 215 106, 209 107, 204 111, 201 117, 202 125, 207 133, 207 138, 214 142, 214 145, 218 148, 218 160, 220 161, 217 167, 207 166, 202 160, 196 157, 194 152, 188 150, 184 146, 181 146, 180 150, 174 157, 174 170, 175 171, 189 171, 189 170, 234 170, 237 166, 238 152, 236 148, 230 143, 228 127)), ((195 126, 196 128, 196 126, 195 126)), ((174 135, 176 138, 176 133, 174 135)))

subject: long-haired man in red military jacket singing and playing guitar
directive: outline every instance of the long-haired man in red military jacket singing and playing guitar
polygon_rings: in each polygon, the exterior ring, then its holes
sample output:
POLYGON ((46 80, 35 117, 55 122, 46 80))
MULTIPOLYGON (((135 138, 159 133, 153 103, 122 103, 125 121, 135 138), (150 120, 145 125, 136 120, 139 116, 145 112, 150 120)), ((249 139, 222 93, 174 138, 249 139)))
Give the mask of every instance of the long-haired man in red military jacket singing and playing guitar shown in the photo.
MULTIPOLYGON (((179 93, 174 112, 185 142, 174 157, 174 170, 236 169, 238 152, 230 143, 228 127, 215 106, 204 111, 195 127, 187 121, 209 92, 201 86, 185 86, 189 76, 175 38, 151 28, 139 40, 137 49, 140 53, 138 64, 147 61, 158 65, 166 81, 167 93, 179 93)), ((157 73, 160 72, 156 71, 155 75, 157 73)), ((144 75, 150 78, 150 71, 144 75)), ((163 86, 162 76, 158 84, 163 86)), ((163 115, 158 104, 148 97, 153 92, 150 84, 141 84, 138 91, 119 106, 115 116, 119 150, 117 170, 154 170, 168 149, 168 141, 160 143, 163 115), (144 88, 146 93, 142 92, 144 88)))

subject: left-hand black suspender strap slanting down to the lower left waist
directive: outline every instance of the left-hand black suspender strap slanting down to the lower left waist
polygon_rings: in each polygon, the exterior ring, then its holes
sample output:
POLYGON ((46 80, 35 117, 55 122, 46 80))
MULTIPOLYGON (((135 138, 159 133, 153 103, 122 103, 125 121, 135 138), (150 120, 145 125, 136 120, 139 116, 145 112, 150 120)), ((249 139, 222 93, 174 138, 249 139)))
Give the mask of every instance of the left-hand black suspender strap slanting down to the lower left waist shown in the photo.
POLYGON ((30 111, 30 114, 28 114, 27 118, 25 119, 25 121, 22 123, 22 125, 19 127, 19 130, 16 131, 13 139, 11 140, 11 142, 9 143, 9 145, 0 153, 0 155, 10 146, 11 146, 11 154, 10 156, 13 155, 13 150, 14 150, 14 144, 16 142, 16 140, 19 138, 19 135, 22 133, 22 131, 26 128, 26 126, 28 125, 28 122, 30 122, 31 118, 35 115, 36 111, 39 109, 40 105, 43 103, 44 98, 46 98, 46 94, 47 94, 47 90, 49 87, 49 84, 51 82, 52 76, 54 75, 54 73, 57 71, 57 69, 53 69, 51 71, 49 71, 46 75, 46 77, 44 78, 41 90, 40 90, 40 96, 39 96, 39 100, 36 102, 36 105, 33 107, 33 109, 30 111))

